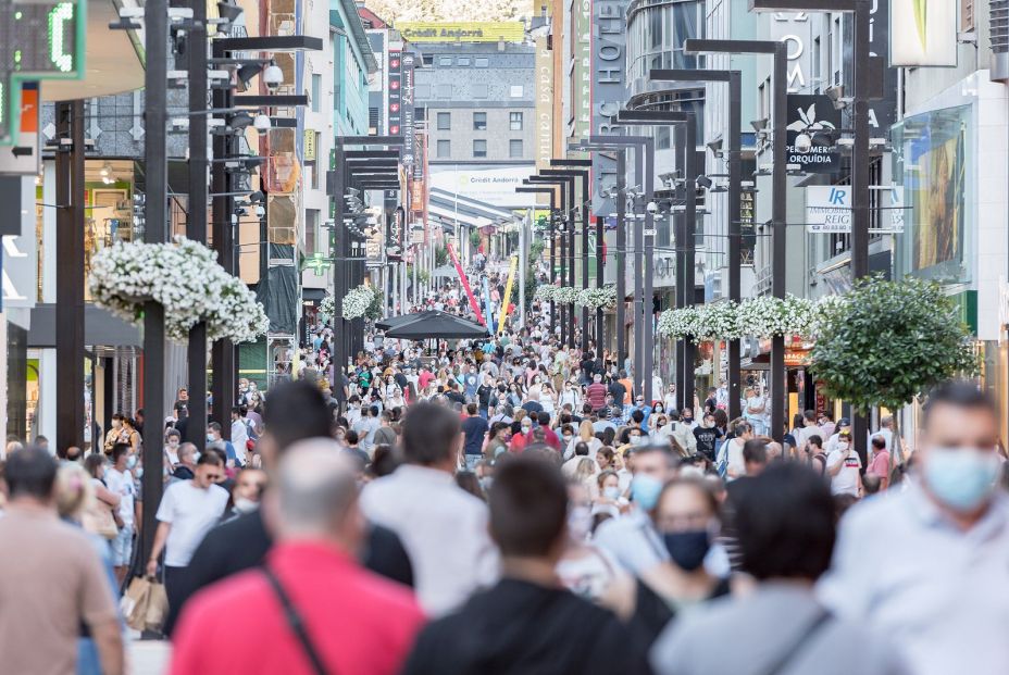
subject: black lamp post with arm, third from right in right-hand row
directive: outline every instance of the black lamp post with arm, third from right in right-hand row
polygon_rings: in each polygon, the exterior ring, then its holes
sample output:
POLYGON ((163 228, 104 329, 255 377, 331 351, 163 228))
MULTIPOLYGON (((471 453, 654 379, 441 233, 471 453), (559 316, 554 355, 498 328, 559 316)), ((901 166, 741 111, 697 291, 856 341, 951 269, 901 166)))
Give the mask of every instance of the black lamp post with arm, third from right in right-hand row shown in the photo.
MULTIPOLYGON (((743 87, 739 71, 652 70, 653 82, 723 82, 728 85, 728 299, 742 299, 740 274, 743 266, 743 87)), ((696 178, 696 175, 695 175, 696 178)), ((728 418, 742 414, 739 399, 743 371, 739 340, 728 340, 728 418)))

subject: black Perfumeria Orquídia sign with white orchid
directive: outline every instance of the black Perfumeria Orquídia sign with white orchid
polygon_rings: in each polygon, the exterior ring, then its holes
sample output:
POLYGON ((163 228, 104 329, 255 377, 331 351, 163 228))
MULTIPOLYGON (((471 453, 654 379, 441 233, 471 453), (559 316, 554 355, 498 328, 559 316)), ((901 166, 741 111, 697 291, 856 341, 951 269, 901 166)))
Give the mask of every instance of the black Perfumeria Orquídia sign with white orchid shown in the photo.
POLYGON ((831 134, 842 128, 840 111, 834 109, 824 95, 788 95, 788 164, 798 164, 801 171, 813 174, 835 174, 840 171, 840 154, 834 149, 831 134), (809 138, 808 150, 798 150, 800 135, 809 138))

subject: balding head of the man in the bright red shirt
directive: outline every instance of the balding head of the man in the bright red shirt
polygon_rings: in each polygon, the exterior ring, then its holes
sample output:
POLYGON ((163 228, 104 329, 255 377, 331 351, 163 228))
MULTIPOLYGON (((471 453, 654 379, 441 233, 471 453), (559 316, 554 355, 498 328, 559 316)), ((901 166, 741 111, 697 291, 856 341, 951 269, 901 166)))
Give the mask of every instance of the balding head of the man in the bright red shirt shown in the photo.
POLYGON ((353 462, 331 438, 291 445, 277 466, 272 525, 282 539, 329 539, 348 549, 363 532, 353 462))

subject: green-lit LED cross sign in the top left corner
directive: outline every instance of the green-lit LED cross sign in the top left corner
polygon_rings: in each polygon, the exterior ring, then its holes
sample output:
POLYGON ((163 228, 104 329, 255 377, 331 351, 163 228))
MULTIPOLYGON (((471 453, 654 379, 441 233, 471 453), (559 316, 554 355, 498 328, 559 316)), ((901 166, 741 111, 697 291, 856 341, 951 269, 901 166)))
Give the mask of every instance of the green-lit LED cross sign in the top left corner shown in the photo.
POLYGON ((16 135, 22 80, 83 73, 84 0, 0 0, 0 142, 16 135))

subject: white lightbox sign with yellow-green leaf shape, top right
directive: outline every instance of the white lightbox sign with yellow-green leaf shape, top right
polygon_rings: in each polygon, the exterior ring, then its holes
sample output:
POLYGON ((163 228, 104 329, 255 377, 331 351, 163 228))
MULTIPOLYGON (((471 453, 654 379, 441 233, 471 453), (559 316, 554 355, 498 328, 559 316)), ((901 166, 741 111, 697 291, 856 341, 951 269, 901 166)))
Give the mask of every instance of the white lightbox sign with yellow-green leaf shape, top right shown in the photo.
POLYGON ((892 0, 892 66, 957 65, 957 0, 892 0))

